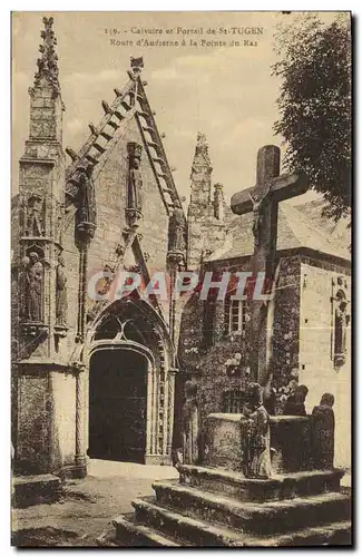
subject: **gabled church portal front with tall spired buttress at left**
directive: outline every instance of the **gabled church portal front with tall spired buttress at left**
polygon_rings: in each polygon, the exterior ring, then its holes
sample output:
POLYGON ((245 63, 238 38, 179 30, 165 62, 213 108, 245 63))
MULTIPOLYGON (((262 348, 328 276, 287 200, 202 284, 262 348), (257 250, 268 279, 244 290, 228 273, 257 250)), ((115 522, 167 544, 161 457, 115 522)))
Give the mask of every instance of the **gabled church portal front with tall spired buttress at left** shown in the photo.
POLYGON ((43 22, 13 201, 16 469, 84 476, 87 453, 169 463, 175 305, 137 294, 107 300, 119 270, 147 283, 150 270, 172 274, 186 264, 185 217, 143 60, 131 59, 128 82, 110 106, 101 101, 100 123, 67 158, 52 19, 43 22), (95 301, 87 289, 100 272, 109 284, 98 281, 95 301))

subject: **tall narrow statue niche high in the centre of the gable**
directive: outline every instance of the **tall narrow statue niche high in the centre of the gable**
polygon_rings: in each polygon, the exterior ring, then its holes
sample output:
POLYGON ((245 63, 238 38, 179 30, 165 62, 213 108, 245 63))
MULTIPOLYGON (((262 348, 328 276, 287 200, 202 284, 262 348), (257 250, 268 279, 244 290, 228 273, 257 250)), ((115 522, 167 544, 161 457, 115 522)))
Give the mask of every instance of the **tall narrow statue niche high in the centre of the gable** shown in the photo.
POLYGON ((127 177, 127 208, 126 215, 129 226, 136 226, 143 212, 143 178, 140 172, 141 145, 130 141, 127 144, 128 177, 127 177))

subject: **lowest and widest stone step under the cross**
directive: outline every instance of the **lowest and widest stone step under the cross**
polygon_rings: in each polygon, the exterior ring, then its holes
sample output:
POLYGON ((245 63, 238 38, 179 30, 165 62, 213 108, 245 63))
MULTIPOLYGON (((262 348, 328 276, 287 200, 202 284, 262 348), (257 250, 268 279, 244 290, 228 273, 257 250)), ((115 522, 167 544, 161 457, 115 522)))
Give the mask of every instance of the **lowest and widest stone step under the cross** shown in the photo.
MULTIPOLYGON (((255 536, 209 525, 203 520, 186 517, 146 499, 133 502, 136 520, 147 525, 150 532, 166 532, 167 539, 178 545, 196 547, 278 547, 351 545, 351 522, 339 521, 317 527, 302 528, 280 536, 255 536), (183 541, 185 540, 185 541, 183 541)), ((138 526, 138 525, 137 525, 138 526)), ((146 532, 145 532, 146 535, 146 532)))

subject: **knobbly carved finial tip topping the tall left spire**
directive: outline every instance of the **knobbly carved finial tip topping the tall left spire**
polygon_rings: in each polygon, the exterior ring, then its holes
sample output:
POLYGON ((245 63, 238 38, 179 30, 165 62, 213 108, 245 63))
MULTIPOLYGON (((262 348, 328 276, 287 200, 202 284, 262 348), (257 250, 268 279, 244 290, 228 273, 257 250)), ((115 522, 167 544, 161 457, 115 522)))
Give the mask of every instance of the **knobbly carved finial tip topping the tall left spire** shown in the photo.
POLYGON ((35 86, 39 87, 41 85, 41 80, 46 79, 53 87, 55 91, 59 94, 60 85, 58 79, 58 57, 55 49, 57 39, 55 37, 53 30, 51 29, 53 19, 42 18, 42 22, 45 29, 41 31, 40 36, 43 40, 43 43, 39 46, 41 58, 37 60, 38 71, 35 76, 35 86))

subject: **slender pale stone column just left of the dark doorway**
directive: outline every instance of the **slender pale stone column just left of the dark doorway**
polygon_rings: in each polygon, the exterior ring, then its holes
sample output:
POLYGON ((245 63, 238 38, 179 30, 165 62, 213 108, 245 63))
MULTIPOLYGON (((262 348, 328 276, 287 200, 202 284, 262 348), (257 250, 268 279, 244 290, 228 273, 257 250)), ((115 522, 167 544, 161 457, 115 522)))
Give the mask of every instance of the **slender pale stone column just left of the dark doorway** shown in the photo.
POLYGON ((74 365, 76 373, 76 470, 75 476, 84 478, 87 476, 86 455, 86 365, 76 362, 74 365))

